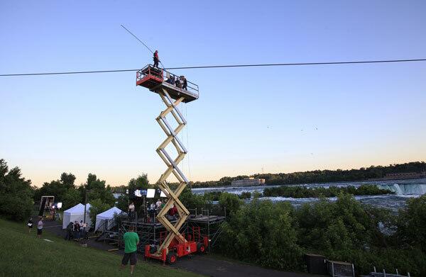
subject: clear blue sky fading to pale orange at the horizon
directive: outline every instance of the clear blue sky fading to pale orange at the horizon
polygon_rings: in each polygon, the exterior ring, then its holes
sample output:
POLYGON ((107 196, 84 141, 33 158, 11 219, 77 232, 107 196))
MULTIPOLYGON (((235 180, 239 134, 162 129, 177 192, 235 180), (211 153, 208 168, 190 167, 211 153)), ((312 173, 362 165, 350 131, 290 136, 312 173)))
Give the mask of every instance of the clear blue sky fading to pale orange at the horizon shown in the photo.
MULTIPOLYGON (((0 74, 426 58, 426 1, 0 1, 0 74)), ((193 181, 425 160, 426 62, 192 69, 193 181)), ((160 97, 133 72, 0 77, 0 158, 35 186, 165 165, 160 97)))

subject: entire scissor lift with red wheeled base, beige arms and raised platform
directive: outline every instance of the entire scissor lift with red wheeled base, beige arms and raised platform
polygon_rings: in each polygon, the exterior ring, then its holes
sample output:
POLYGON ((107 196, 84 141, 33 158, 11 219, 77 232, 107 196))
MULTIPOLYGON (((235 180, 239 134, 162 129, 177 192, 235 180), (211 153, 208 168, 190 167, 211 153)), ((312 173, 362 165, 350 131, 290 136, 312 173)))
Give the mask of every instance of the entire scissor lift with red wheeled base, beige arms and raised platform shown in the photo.
POLYGON ((180 193, 182 193, 189 181, 178 167, 178 164, 187 154, 187 149, 178 138, 178 133, 187 124, 187 121, 179 111, 178 105, 181 102, 188 103, 197 100, 199 91, 198 86, 190 81, 187 81, 187 89, 182 89, 180 85, 175 84, 175 79, 180 79, 180 77, 176 77, 163 69, 153 67, 151 64, 148 64, 136 73, 136 85, 144 86, 150 89, 150 91, 160 95, 161 100, 166 106, 165 110, 156 118, 158 124, 165 132, 165 135, 167 135, 166 139, 156 150, 167 166, 167 169, 161 174, 160 179, 157 181, 158 187, 167 197, 167 202, 158 213, 157 220, 165 227, 168 234, 158 249, 151 249, 150 245, 146 245, 145 256, 146 258, 168 261, 170 264, 175 263, 176 259, 180 256, 192 254, 197 251, 204 252, 208 245, 207 237, 203 238, 203 242, 195 242, 193 237, 185 238, 185 235, 179 232, 180 227, 182 227, 182 224, 187 220, 190 212, 179 200, 180 193), (168 123, 166 116, 169 114, 173 115, 173 118, 178 123, 178 127, 173 129, 172 125, 168 123), (170 154, 166 151, 165 148, 170 142, 178 152, 178 157, 170 157, 170 154), (176 179, 178 179, 179 185, 175 191, 168 186, 167 179, 170 174, 173 174, 176 179), (170 210, 173 205, 178 209, 179 215, 179 219, 174 224, 166 217, 168 210, 170 210))

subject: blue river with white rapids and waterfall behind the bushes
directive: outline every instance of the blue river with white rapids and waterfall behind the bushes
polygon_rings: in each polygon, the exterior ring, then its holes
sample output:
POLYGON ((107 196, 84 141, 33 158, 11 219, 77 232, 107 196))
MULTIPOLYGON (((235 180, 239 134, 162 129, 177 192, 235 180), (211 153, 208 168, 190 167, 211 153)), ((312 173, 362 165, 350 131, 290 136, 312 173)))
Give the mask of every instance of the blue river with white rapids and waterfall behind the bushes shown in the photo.
MULTIPOLYGON (((426 179, 410 179, 410 180, 386 180, 386 181, 354 181, 354 182, 339 182, 339 183, 307 183, 289 186, 305 186, 307 188, 330 186, 361 186, 361 184, 376 185, 379 188, 385 188, 393 191, 395 194, 386 194, 380 196, 355 196, 356 200, 361 203, 375 205, 377 207, 389 208, 391 210, 398 210, 406 205, 408 198, 415 198, 422 196, 426 193, 426 179)), ((273 186, 244 186, 244 187, 231 187, 226 186, 222 188, 192 188, 192 192, 196 194, 203 194, 209 191, 226 191, 229 193, 241 194, 244 191, 253 193, 258 191, 263 193, 265 188, 273 186)), ((261 199, 269 199, 272 201, 288 201, 292 205, 299 206, 302 203, 312 202, 318 200, 317 198, 287 198, 287 197, 263 197, 261 199)), ((329 200, 336 200, 335 197, 328 198, 329 200)))

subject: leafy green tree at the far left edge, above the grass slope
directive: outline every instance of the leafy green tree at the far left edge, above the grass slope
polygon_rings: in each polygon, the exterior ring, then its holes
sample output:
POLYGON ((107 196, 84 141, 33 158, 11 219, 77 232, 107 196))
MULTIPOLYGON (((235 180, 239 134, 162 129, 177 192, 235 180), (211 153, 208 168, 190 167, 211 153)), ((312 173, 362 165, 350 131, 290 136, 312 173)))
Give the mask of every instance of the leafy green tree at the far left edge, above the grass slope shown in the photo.
POLYGON ((33 203, 31 181, 21 177, 18 167, 9 171, 4 159, 0 159, 0 215, 10 220, 26 220, 33 203))

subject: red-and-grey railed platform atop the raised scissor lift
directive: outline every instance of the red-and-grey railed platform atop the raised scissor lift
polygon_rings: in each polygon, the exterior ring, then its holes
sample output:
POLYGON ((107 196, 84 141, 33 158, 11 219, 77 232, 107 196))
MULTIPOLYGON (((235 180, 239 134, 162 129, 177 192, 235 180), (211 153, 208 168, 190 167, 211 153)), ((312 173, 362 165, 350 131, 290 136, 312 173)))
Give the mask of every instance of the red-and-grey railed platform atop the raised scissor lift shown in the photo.
POLYGON ((180 77, 165 69, 148 64, 136 72, 136 86, 144 86, 155 93, 158 93, 158 90, 165 89, 171 98, 177 100, 182 97, 184 103, 198 99, 199 91, 196 84, 187 81, 187 89, 182 89, 173 84, 172 80, 175 78, 180 77))

